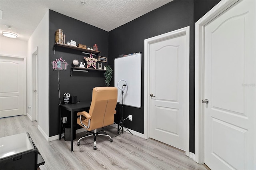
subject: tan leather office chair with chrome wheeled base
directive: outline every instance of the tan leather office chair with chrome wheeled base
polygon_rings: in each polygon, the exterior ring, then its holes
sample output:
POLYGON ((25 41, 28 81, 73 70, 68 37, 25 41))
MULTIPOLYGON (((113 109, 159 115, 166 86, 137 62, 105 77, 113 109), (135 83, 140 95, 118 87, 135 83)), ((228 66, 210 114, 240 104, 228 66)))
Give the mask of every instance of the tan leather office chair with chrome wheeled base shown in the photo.
MULTIPOLYGON (((106 134, 104 130, 97 132, 97 128, 106 127, 114 123, 114 114, 116 114, 117 102, 117 88, 116 87, 95 87, 92 90, 92 103, 90 106, 89 113, 86 111, 78 112, 77 115, 77 124, 86 128, 88 132, 92 133, 82 138, 89 136, 94 136, 93 150, 96 150, 96 136, 108 136, 110 137, 110 142, 113 142, 113 139, 110 135, 106 134), (92 132, 91 130, 94 130, 92 132), (100 133, 100 132, 103 132, 100 133)), ((77 145, 80 145, 80 140, 78 139, 77 145)))

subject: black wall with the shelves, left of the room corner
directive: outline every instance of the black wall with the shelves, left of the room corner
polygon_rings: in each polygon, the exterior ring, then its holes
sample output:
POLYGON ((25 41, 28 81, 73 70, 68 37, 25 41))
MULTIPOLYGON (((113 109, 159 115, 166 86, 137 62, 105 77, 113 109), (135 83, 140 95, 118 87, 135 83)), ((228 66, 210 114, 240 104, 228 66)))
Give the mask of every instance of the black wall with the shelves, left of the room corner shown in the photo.
MULTIPOLYGON (((72 61, 77 59, 79 62, 86 62, 83 57, 89 57, 90 55, 64 47, 56 47, 54 55, 55 31, 58 29, 62 29, 66 34, 66 42, 68 40, 74 40, 77 45, 81 43, 90 45, 91 47, 94 43, 97 43, 98 50, 101 51, 100 56, 108 57, 108 32, 49 10, 49 136, 59 134, 58 105, 60 101, 58 76, 60 79, 61 100, 63 100, 64 93, 77 96, 77 101, 91 100, 92 89, 98 86, 105 86, 104 71, 73 71, 72 77, 70 77, 70 68, 74 66, 72 65, 72 61), (67 70, 57 71, 52 69, 51 62, 60 57, 68 62, 67 70)), ((103 63, 102 65, 106 64, 103 63)), ((70 121, 70 113, 64 112, 64 116, 68 116, 68 121, 70 121)), ((76 119, 74 121, 76 122, 76 119)))

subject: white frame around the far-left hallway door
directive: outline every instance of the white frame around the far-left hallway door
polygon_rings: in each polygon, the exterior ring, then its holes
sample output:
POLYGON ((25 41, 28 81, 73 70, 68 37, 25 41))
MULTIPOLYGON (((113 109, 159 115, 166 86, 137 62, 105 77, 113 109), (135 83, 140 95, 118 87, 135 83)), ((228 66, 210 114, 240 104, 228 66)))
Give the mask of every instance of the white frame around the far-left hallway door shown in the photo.
POLYGON ((22 57, 22 56, 15 56, 15 55, 2 55, 0 54, 0 56, 2 57, 9 57, 9 58, 19 58, 19 59, 23 59, 23 66, 24 66, 24 84, 23 84, 23 115, 27 115, 27 58, 26 57, 22 57))

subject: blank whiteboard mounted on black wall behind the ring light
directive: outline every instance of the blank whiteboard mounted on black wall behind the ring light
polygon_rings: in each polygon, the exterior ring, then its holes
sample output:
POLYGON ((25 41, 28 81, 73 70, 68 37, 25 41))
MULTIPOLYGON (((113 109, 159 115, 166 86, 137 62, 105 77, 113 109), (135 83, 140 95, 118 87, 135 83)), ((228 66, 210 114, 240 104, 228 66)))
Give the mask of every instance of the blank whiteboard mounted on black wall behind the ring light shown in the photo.
POLYGON ((119 57, 114 60, 114 81, 115 87, 118 86, 117 101, 120 104, 132 107, 141 107, 141 53, 119 57), (124 89, 123 84, 127 83, 127 88, 124 89), (120 81, 120 82, 119 82, 120 81), (119 83, 118 83, 119 82, 119 83), (124 99, 124 100, 122 100, 124 99))

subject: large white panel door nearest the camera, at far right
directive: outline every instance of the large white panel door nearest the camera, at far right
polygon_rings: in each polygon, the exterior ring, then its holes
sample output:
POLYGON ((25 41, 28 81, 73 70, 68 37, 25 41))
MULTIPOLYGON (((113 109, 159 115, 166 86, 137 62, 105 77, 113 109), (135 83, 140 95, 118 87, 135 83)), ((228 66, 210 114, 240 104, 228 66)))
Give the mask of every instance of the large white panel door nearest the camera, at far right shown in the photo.
POLYGON ((205 26, 204 162, 256 169, 256 1, 239 1, 205 26))

